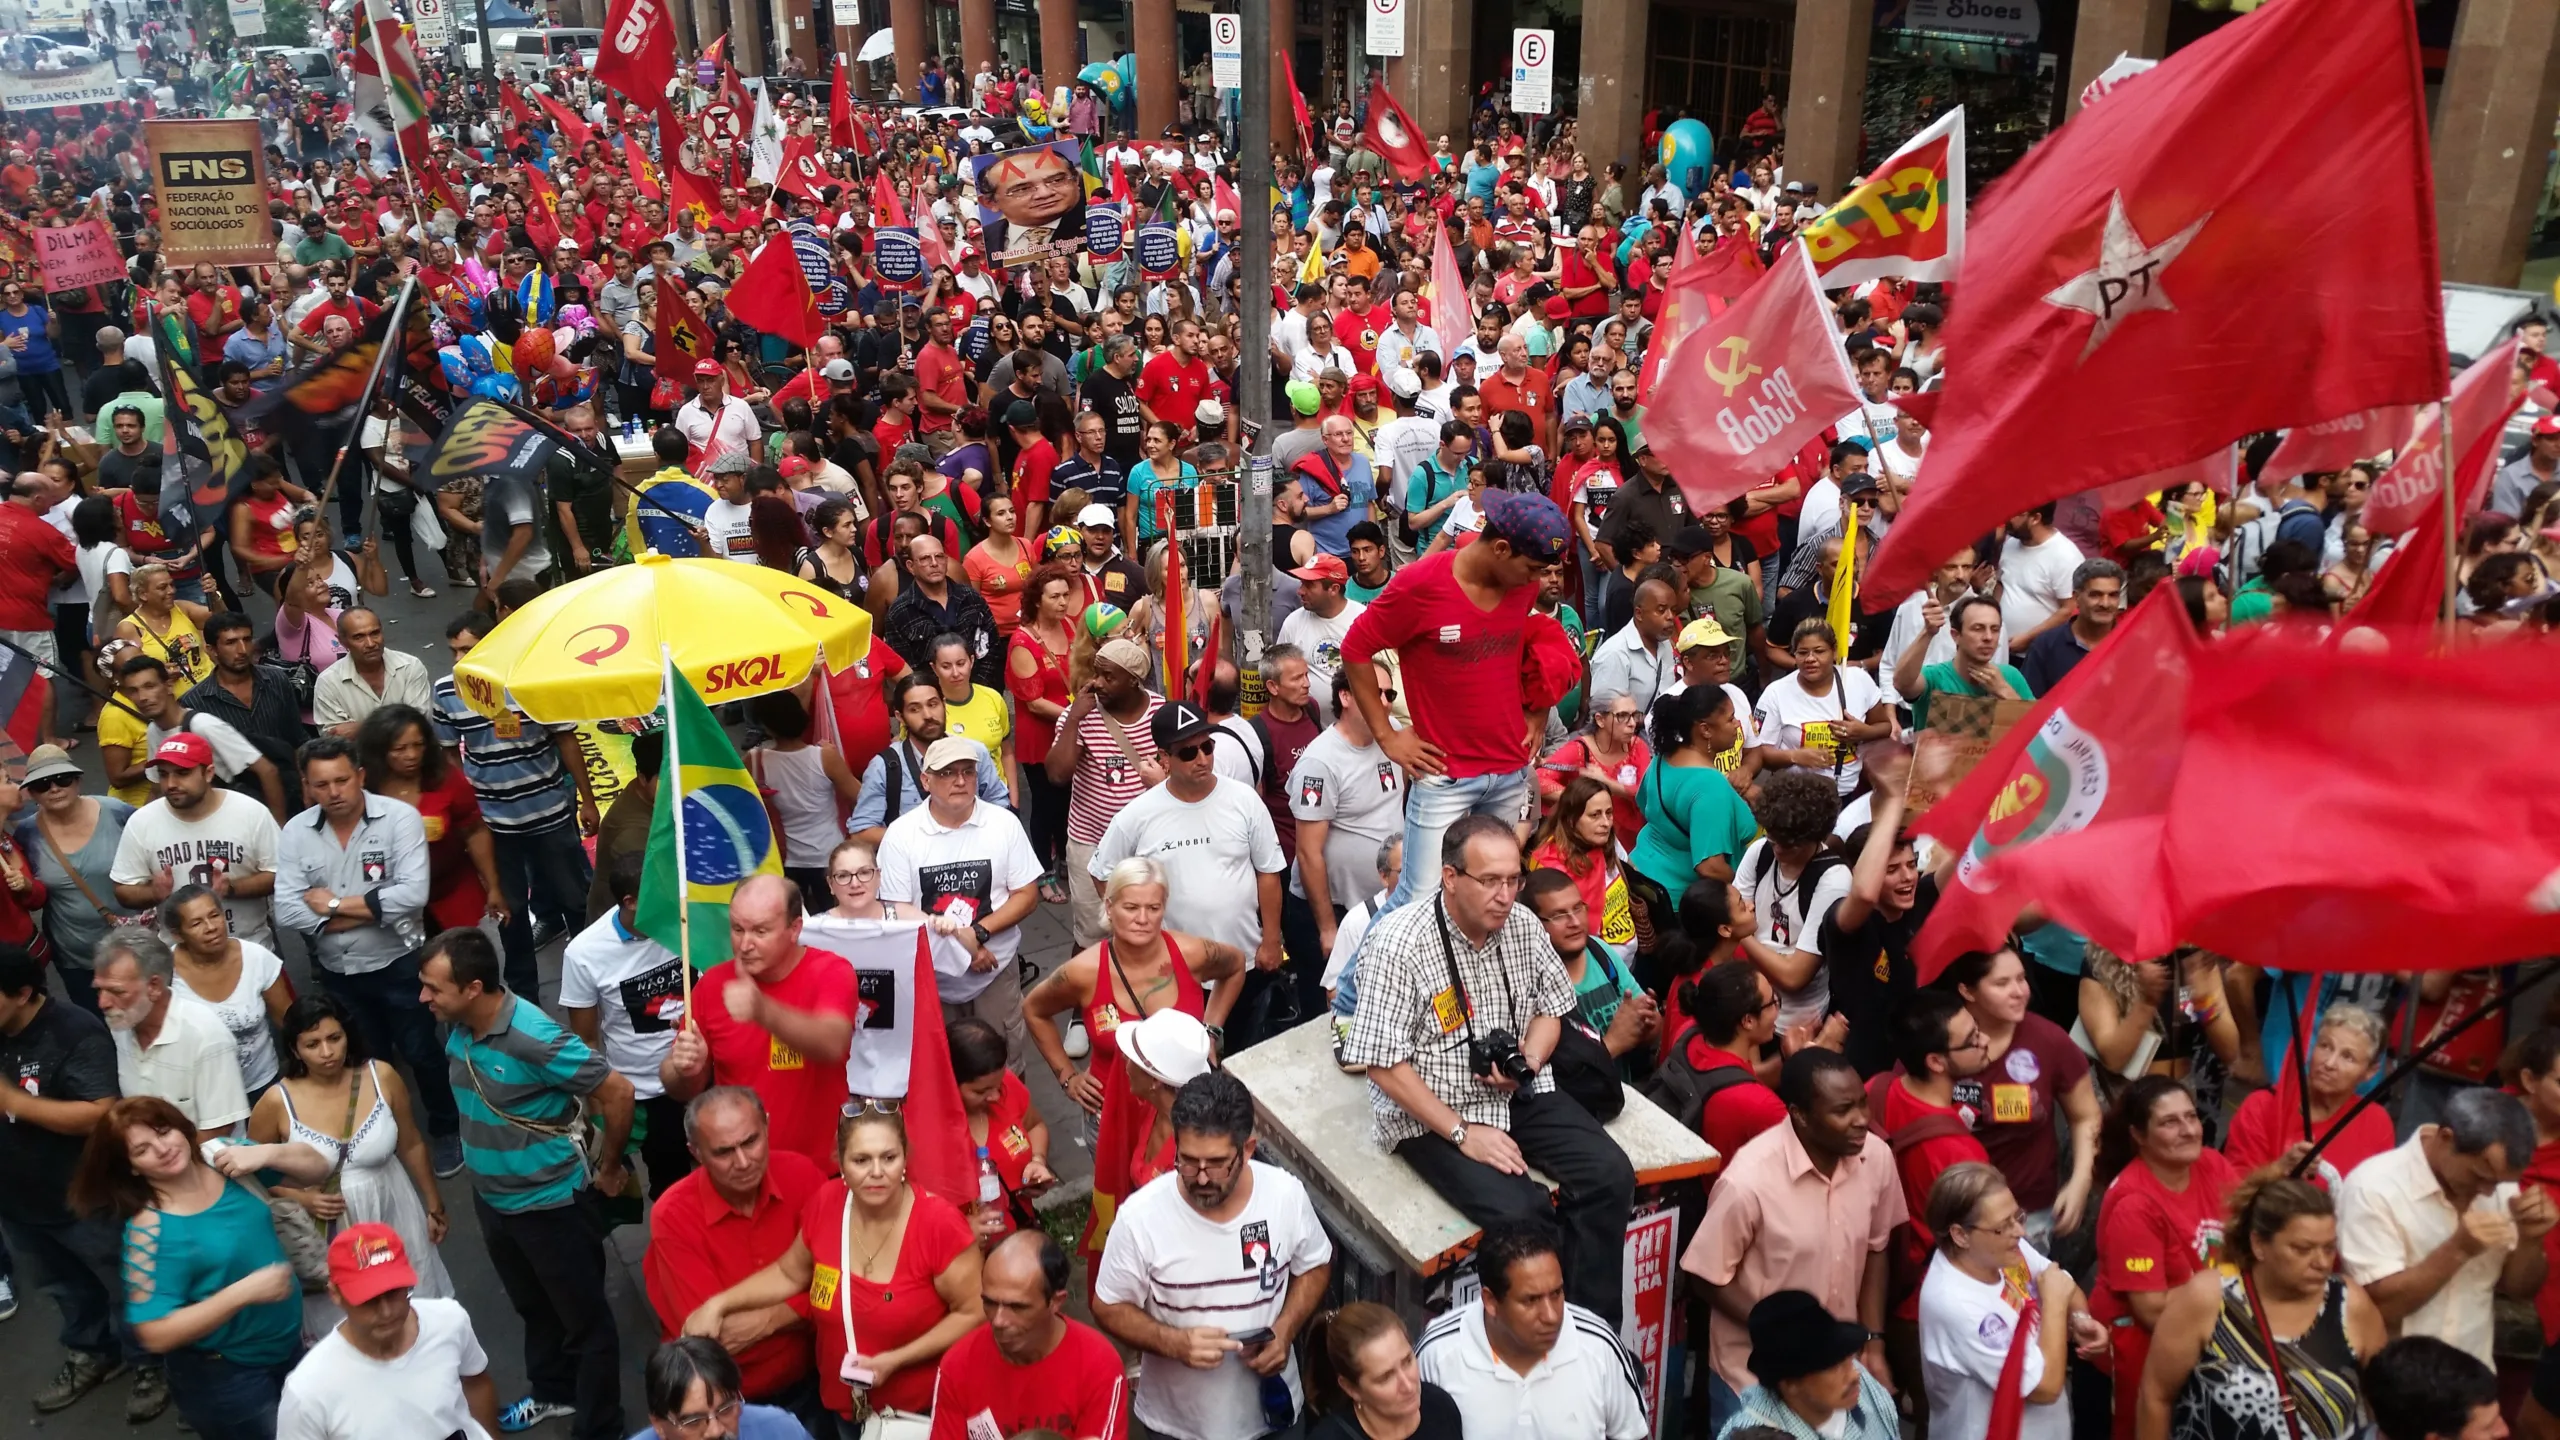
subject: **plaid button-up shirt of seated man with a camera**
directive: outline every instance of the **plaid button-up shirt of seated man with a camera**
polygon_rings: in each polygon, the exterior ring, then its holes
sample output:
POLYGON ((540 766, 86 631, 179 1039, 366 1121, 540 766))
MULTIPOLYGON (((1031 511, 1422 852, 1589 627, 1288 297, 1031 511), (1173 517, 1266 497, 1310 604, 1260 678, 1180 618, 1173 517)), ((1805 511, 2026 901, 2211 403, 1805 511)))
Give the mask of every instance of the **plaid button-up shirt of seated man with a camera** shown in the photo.
MULTIPOLYGON (((1464 984, 1464 1002, 1475 1010, 1477 1038, 1492 1030, 1528 1035, 1528 1022, 1539 1015, 1574 1012, 1574 986, 1564 979, 1564 961, 1526 904, 1510 907, 1510 917, 1487 945, 1472 945, 1454 920, 1441 920, 1441 899, 1434 897, 1385 915, 1362 940, 1359 1012, 1352 1017, 1352 1038, 1344 1040, 1341 1056, 1372 1071, 1411 1061, 1431 1094, 1467 1125, 1510 1130, 1510 1097, 1467 1071, 1469 1015, 1449 984, 1452 958, 1464 984), (1441 925, 1449 935, 1446 953, 1441 925)), ((1551 1092, 1556 1079, 1539 1071, 1531 1089, 1551 1092)), ((1423 1135, 1421 1120, 1405 1115, 1377 1081, 1370 1081, 1370 1112, 1377 1117, 1380 1145, 1393 1148, 1423 1135)))

